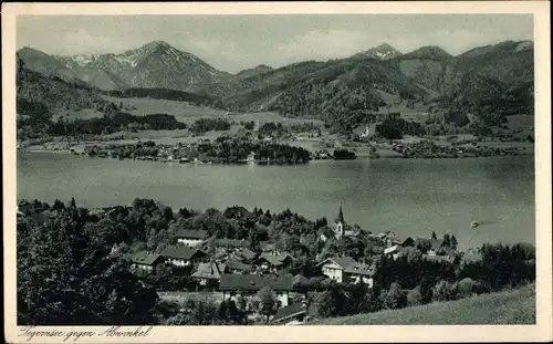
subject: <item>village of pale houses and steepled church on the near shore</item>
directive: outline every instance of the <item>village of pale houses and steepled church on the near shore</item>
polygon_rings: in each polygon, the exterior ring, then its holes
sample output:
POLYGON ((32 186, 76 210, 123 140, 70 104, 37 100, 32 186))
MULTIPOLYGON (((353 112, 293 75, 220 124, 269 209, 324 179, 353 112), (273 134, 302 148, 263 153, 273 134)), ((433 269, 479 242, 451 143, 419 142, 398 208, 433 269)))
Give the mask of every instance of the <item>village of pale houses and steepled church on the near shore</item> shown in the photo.
MULTIPOLYGON (((357 226, 346 222, 342 207, 335 221, 323 228, 317 240, 355 238, 362 234, 357 226)), ((452 262, 462 257, 467 261, 479 260, 478 250, 468 253, 457 251, 455 237, 447 240, 432 238, 398 238, 394 232, 369 233, 382 244, 378 254, 363 262, 338 253, 328 258, 317 254, 319 275, 306 278, 293 274, 290 269, 295 259, 293 254, 276 249, 273 242, 260 242, 253 249, 248 240, 213 239, 205 230, 180 229, 173 244, 159 253, 140 251, 132 256, 132 269, 139 275, 160 273, 166 267, 188 267, 191 278, 197 282, 195 290, 164 291, 157 293, 161 300, 177 302, 184 309, 195 301, 211 300, 220 302, 232 300, 247 304, 249 317, 259 321, 259 294, 270 290, 278 300, 278 310, 271 316, 273 324, 300 324, 309 321, 309 293, 324 289, 327 283, 374 285, 376 262, 382 258, 396 260, 404 248, 417 248, 422 259, 452 262), (459 258, 458 258, 459 257, 459 258)), ((113 250, 117 247, 114 246, 113 250)), ((309 251, 305 248, 306 251, 309 251)), ((407 292, 407 291, 405 291, 407 292)))

